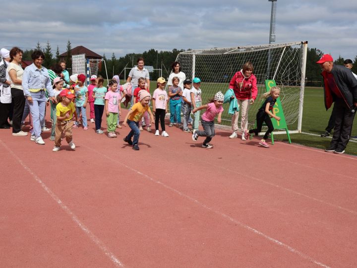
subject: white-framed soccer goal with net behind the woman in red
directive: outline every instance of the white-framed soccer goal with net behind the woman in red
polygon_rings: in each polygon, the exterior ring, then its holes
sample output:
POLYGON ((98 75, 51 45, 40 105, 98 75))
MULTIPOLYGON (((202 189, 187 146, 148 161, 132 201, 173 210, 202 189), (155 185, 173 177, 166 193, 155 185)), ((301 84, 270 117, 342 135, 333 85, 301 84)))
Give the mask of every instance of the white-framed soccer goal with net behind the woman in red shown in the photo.
MULTIPOLYGON (((188 79, 201 79, 202 104, 218 91, 225 93, 233 75, 244 63, 251 62, 257 77, 258 96, 249 108, 249 125, 255 123, 261 105, 260 96, 265 92, 265 80, 274 79, 281 88, 280 100, 288 129, 290 133, 298 133, 302 124, 306 53, 307 41, 190 50, 179 53, 177 61, 188 79)), ((228 114, 228 105, 225 104, 224 108, 222 123, 230 125, 232 116, 228 114)))

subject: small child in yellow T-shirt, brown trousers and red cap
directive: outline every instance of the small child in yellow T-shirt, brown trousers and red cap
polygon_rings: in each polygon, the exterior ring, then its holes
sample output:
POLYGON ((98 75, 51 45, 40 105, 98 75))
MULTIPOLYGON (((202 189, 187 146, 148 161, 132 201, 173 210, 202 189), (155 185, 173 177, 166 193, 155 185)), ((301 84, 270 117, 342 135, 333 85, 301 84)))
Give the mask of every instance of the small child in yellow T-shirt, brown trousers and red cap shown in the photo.
POLYGON ((64 133, 66 141, 68 142, 69 147, 74 150, 75 145, 72 138, 72 126, 74 117, 76 121, 78 120, 77 113, 75 111, 74 104, 72 99, 74 98, 73 93, 69 89, 63 89, 59 96, 57 97, 60 100, 60 103, 56 106, 56 137, 55 137, 55 147, 52 149, 53 152, 58 152, 61 145, 61 136, 64 133))

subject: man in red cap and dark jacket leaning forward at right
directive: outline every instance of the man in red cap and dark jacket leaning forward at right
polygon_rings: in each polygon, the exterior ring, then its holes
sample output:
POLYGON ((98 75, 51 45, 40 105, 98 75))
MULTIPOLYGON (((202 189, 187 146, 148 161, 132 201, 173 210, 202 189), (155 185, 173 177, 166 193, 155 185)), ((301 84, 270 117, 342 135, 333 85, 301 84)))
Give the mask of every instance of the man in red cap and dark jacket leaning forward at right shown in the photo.
POLYGON ((334 134, 330 147, 325 151, 344 153, 356 114, 357 80, 350 69, 334 65, 329 54, 323 55, 316 63, 322 68, 326 110, 334 102, 333 112, 336 115, 334 134))

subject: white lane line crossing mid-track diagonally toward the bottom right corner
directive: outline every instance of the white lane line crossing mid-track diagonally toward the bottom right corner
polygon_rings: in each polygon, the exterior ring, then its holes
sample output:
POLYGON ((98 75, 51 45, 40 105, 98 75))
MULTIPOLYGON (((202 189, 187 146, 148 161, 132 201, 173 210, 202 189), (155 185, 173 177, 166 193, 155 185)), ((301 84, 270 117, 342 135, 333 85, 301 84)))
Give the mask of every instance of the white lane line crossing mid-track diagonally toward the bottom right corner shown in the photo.
POLYGON ((232 217, 226 215, 225 213, 220 212, 219 210, 215 210, 215 209, 213 209, 213 208, 207 206, 206 204, 204 204, 204 203, 202 203, 202 202, 200 202, 200 201, 198 201, 198 200, 196 200, 196 199, 194 199, 194 198, 191 198, 191 197, 189 197, 189 196, 183 194, 183 193, 180 192, 179 190, 176 190, 176 189, 174 189, 174 188, 172 188, 172 187, 166 185, 166 184, 163 183, 163 182, 160 182, 160 181, 158 181, 158 180, 155 180, 154 178, 150 177, 149 175, 144 174, 144 173, 142 173, 142 172, 140 172, 140 171, 138 171, 138 170, 136 170, 136 169, 134 169, 134 168, 132 168, 132 167, 129 167, 129 166, 127 166, 127 165, 121 163, 120 161, 118 161, 118 160, 116 160, 116 159, 113 159, 112 157, 109 157, 108 155, 106 155, 106 154, 104 154, 104 153, 102 153, 102 152, 100 152, 100 151, 97 151, 97 150, 95 150, 95 149, 93 149, 93 148, 90 148, 90 147, 88 147, 88 146, 86 146, 86 145, 81 145, 81 147, 85 147, 85 148, 87 148, 87 149, 89 149, 89 150, 92 150, 93 152, 95 152, 95 153, 97 153, 97 154, 103 155, 105 158, 107 158, 107 159, 109 159, 109 160, 111 160, 111 161, 115 161, 115 162, 119 163, 120 165, 122 165, 123 167, 125 167, 125 168, 127 168, 127 169, 133 171, 134 173, 137 173, 137 174, 139 174, 139 175, 145 177, 146 179, 148 179, 148 180, 150 180, 150 181, 152 181, 152 182, 154 182, 154 183, 157 183, 157 184, 161 185, 162 187, 164 187, 164 188, 166 188, 166 189, 168 189, 168 190, 170 190, 170 191, 172 191, 172 192, 178 194, 179 196, 181 196, 181 197, 183 197, 183 198, 185 198, 185 199, 188 199, 188 200, 190 200, 190 201, 193 201, 194 203, 196 203, 196 204, 202 206, 203 208, 205 208, 205 209, 207 209, 207 210, 209 210, 209 211, 211 211, 211 212, 213 212, 213 213, 215 213, 215 214, 217 214, 217 215, 219 215, 219 216, 222 216, 222 217, 228 219, 228 220, 231 221, 231 222, 234 222, 234 223, 238 224, 239 226, 243 227, 244 229, 247 229, 247 230, 249 230, 249 231, 251 231, 251 232, 253 232, 253 233, 257 234, 257 235, 260 235, 260 236, 264 237, 264 238, 267 239, 268 241, 270 241, 270 242, 272 242, 272 243, 274 243, 274 244, 276 244, 276 245, 278 245, 278 246, 281 246, 281 247, 287 249, 288 251, 290 251, 290 252, 292 252, 292 253, 294 253, 294 254, 297 254, 298 256, 300 256, 301 258, 303 258, 303 259, 305 259, 305 260, 308 260, 308 261, 310 261, 310 262, 312 262, 312 263, 314 263, 314 264, 316 264, 316 265, 318 265, 318 266, 320 266, 320 267, 329 268, 329 266, 327 266, 327 265, 325 265, 325 264, 323 264, 323 263, 321 263, 321 262, 316 261, 316 260, 313 259, 312 257, 310 257, 310 256, 308 256, 308 255, 306 255, 306 254, 304 254, 304 253, 302 253, 302 252, 300 252, 300 251, 294 249, 293 247, 291 247, 291 246, 289 246, 289 245, 287 245, 287 244, 285 244, 285 243, 283 243, 283 242, 281 242, 281 241, 279 241, 279 240, 277 240, 277 239, 274 239, 274 238, 272 238, 272 237, 270 237, 270 236, 268 236, 268 235, 266 235, 266 234, 264 234, 264 233, 258 231, 257 229, 254 229, 254 228, 252 228, 252 227, 250 227, 250 226, 248 226, 248 225, 246 225, 246 224, 244 224, 244 223, 242 223, 242 222, 236 220, 235 218, 232 218, 232 217))

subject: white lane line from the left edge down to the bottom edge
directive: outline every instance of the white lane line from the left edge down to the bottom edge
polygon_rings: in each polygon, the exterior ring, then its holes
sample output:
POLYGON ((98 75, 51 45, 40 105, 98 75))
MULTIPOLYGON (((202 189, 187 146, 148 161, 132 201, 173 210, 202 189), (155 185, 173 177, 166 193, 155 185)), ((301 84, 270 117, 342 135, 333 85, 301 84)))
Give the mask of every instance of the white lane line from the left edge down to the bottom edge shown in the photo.
POLYGON ((41 187, 50 195, 50 197, 56 201, 60 205, 60 208, 64 210, 74 221, 76 225, 98 246, 98 248, 107 256, 109 259, 117 266, 124 267, 124 265, 119 261, 119 259, 104 245, 104 243, 92 233, 91 230, 88 229, 82 223, 78 217, 60 200, 59 197, 56 196, 52 190, 46 186, 46 184, 28 167, 26 164, 9 148, 7 145, 0 139, 2 146, 19 162, 19 164, 28 172, 30 175, 38 182, 41 187))

